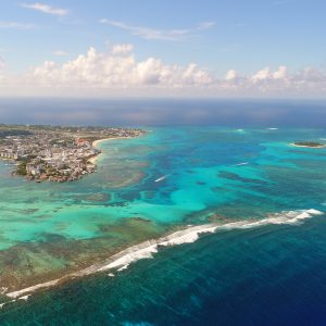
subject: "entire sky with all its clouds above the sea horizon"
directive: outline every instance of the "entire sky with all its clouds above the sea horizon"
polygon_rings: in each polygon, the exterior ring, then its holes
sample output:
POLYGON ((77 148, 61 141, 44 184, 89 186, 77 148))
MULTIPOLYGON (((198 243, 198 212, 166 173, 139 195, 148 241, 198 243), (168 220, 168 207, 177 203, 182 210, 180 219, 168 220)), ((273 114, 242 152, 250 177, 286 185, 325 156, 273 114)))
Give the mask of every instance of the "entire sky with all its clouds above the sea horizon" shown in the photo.
POLYGON ((324 0, 0 0, 0 97, 325 98, 324 0))

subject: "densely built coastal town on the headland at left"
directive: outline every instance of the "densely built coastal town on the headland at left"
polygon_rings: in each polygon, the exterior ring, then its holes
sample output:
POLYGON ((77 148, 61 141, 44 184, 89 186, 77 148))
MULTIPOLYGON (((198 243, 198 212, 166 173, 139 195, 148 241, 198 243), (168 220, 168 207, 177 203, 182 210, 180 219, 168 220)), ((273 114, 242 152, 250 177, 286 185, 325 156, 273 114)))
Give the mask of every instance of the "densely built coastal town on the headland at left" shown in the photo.
POLYGON ((0 125, 0 160, 13 165, 12 175, 27 180, 73 181, 96 172, 92 159, 101 153, 96 141, 143 134, 134 128, 0 125))

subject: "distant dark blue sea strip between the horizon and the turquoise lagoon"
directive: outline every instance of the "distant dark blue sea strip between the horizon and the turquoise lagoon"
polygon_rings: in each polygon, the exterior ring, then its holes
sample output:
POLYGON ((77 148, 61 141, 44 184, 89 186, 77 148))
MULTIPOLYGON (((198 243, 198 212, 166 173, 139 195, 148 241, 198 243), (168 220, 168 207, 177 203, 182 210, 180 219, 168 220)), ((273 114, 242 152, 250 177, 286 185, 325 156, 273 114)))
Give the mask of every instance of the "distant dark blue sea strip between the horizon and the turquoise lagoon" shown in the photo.
POLYGON ((326 100, 2 98, 0 121, 62 125, 325 127, 326 100))

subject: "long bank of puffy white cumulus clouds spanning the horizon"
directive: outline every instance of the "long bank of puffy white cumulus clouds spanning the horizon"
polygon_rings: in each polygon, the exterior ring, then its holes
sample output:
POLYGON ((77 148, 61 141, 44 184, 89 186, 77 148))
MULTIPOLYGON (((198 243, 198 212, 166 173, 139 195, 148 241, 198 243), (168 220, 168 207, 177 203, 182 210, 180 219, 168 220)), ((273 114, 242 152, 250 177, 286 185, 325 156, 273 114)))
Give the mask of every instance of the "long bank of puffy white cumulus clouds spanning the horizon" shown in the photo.
MULTIPOLYGON (((108 52, 89 48, 62 64, 46 61, 20 76, 0 70, 0 93, 59 96, 300 96, 323 97, 326 72, 303 68, 291 73, 285 65, 241 75, 228 70, 218 78, 196 63, 167 64, 158 58, 137 60, 133 45, 114 45, 108 52)), ((1 63, 0 63, 1 66, 1 63)))

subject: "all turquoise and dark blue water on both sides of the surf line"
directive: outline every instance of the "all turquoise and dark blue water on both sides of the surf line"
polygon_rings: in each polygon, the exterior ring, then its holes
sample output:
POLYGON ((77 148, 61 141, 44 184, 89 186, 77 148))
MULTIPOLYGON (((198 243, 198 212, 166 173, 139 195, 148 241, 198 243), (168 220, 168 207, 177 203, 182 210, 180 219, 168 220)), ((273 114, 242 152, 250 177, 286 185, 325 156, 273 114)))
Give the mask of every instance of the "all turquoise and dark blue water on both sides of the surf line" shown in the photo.
MULTIPOLYGON (((324 212, 326 149, 290 142, 325 138, 324 129, 154 128, 102 142, 97 174, 58 185, 12 178, 0 164, 0 286, 52 279, 189 224, 324 212)), ((294 315, 304 322, 314 312, 322 324, 324 218, 204 236, 116 277, 99 274, 8 304, 0 321, 275 325, 279 315, 298 325, 294 315)))

